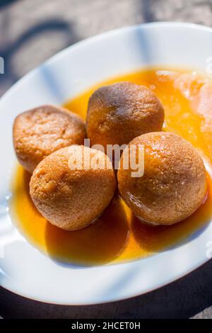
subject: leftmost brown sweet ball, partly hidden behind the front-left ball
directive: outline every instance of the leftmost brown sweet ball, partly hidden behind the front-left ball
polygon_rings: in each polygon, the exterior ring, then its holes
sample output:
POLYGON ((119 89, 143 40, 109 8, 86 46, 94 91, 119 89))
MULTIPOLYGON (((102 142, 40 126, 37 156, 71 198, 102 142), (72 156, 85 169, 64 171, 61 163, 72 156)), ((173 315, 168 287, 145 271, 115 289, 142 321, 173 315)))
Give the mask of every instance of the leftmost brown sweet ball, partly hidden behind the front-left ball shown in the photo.
POLYGON ((33 173, 37 164, 56 150, 82 145, 83 120, 64 108, 46 105, 20 113, 13 124, 13 145, 18 161, 33 173))

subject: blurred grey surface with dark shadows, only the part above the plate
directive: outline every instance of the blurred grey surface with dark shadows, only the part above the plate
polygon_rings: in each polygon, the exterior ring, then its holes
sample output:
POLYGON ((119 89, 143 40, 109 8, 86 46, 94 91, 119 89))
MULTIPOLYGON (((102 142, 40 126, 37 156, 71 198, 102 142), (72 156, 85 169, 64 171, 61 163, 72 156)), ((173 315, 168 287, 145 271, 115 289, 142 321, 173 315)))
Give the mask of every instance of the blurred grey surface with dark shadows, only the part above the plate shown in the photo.
POLYGON ((212 25, 204 0, 0 0, 0 96, 64 47, 106 30, 151 21, 212 25))

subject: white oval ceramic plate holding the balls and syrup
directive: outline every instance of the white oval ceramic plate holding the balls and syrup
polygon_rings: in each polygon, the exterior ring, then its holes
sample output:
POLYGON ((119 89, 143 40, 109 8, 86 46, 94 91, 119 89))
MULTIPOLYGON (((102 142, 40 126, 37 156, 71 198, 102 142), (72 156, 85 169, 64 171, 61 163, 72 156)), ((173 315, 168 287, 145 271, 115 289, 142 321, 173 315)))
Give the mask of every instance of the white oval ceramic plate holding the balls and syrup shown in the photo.
MULTIPOLYGON (((13 86, 0 101, 0 283, 48 303, 82 305, 122 300, 170 283, 204 264, 212 222, 187 242, 148 259, 83 268, 57 264, 20 235, 8 211, 16 164, 12 124, 42 103, 61 104, 98 81, 146 65, 206 68, 212 30, 185 23, 151 23, 98 35, 73 45, 13 86)), ((30 60, 29 60, 30 61, 30 60)), ((24 209, 24 208, 23 208, 24 209)))

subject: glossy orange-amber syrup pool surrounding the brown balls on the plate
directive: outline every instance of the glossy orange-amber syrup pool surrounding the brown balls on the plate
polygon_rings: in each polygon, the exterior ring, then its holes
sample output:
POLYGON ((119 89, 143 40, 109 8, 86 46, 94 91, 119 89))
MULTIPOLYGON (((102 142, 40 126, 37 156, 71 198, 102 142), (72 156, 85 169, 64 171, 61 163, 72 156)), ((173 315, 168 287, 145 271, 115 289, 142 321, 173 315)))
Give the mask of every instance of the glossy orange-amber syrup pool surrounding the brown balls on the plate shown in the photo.
POLYGON ((64 106, 86 119, 88 98, 93 91, 117 81, 146 85, 160 98, 165 108, 164 130, 184 137, 203 157, 208 171, 208 193, 192 216, 170 227, 142 224, 117 193, 95 224, 78 231, 65 231, 54 227, 38 213, 30 199, 30 174, 18 166, 10 203, 13 220, 30 243, 57 261, 90 266, 141 259, 189 241, 189 237, 198 235, 211 221, 211 79, 188 70, 145 69, 100 82, 64 106))

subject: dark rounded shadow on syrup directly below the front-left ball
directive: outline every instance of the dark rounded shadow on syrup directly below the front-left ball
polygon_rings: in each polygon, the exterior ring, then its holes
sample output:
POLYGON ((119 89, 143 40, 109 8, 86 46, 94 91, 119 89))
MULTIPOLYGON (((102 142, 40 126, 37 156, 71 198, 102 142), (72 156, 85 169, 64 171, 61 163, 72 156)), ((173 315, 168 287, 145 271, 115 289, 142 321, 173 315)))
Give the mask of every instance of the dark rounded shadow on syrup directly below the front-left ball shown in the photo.
POLYGON ((107 264, 126 247, 129 234, 126 214, 115 196, 98 220, 81 230, 66 231, 46 224, 45 237, 49 256, 71 264, 107 264))

